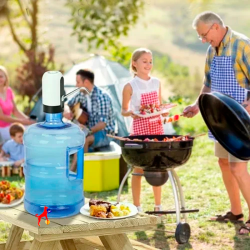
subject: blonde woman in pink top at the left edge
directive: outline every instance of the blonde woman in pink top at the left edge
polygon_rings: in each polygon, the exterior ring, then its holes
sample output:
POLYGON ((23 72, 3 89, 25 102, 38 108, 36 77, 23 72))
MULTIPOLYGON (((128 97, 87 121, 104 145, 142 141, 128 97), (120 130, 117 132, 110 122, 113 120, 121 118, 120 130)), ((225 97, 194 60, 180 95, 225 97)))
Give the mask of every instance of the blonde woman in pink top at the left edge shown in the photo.
POLYGON ((9 128, 13 122, 23 125, 33 124, 24 113, 18 110, 12 89, 9 87, 9 76, 5 67, 0 65, 0 135, 2 142, 10 139, 9 128))

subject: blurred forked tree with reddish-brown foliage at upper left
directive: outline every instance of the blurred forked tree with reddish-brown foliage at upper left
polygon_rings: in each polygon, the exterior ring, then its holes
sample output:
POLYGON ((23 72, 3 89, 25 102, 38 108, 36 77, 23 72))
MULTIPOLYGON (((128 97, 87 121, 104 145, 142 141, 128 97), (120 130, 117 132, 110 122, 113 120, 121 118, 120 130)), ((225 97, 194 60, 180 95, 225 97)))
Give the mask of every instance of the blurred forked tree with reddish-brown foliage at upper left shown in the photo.
MULTIPOLYGON (((40 1, 42 2, 42 1, 40 1)), ((39 0, 30 0, 28 7, 25 0, 0 1, 0 27, 9 26, 14 42, 25 55, 17 67, 15 89, 23 97, 32 96, 41 87, 42 75, 55 69, 53 46, 45 52, 38 38, 39 0)), ((62 70, 62 67, 61 67, 62 70)))

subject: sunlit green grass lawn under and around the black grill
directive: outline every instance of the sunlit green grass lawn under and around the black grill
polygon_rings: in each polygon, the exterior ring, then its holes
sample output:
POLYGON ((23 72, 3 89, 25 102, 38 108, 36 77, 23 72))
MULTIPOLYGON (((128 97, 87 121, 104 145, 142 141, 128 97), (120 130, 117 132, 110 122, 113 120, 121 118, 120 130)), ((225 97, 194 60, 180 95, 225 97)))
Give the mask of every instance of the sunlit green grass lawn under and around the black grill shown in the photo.
MULTIPOLYGON (((179 113, 183 105, 174 110, 179 113)), ((197 134, 206 131, 200 115, 191 119, 181 118, 177 127, 179 134, 197 134)), ((163 216, 163 223, 157 230, 130 233, 129 238, 136 239, 159 249, 250 249, 250 237, 238 235, 238 225, 232 223, 221 224, 210 222, 210 216, 221 214, 229 210, 229 201, 222 182, 217 159, 213 156, 213 143, 206 136, 195 139, 192 155, 187 164, 176 169, 180 178, 187 209, 200 209, 199 213, 188 214, 191 226, 190 242, 178 245, 174 238, 176 229, 175 215, 163 216)), ((16 177, 16 181, 20 181, 16 177)), ((122 201, 132 202, 131 181, 125 187, 121 196, 122 201)), ((87 198, 101 198, 116 200, 117 190, 102 193, 85 193, 87 198)), ((142 205, 144 211, 152 210, 154 197, 152 188, 145 179, 142 180, 142 205)), ((247 219, 247 206, 243 202, 245 220, 247 219)), ((174 198, 170 182, 163 187, 162 205, 164 210, 174 209, 174 198)), ((0 222, 0 241, 6 240, 10 225, 0 222)), ((27 233, 23 236, 28 239, 27 233)))

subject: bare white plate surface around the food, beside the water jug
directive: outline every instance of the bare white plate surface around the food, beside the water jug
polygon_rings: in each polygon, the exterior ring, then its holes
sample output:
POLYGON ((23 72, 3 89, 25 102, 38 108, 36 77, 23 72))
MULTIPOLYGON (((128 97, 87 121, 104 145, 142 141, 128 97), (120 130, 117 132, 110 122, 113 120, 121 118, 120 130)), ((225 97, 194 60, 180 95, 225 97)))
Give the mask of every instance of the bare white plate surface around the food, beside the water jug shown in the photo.
MULTIPOLYGON (((111 204, 116 204, 116 202, 110 202, 111 204)), ((88 216, 90 218, 93 218, 93 219, 97 219, 97 220, 120 220, 120 219, 124 219, 124 218, 128 218, 128 217, 131 217, 131 216, 134 216, 138 213, 138 210, 137 210, 137 207, 131 203, 126 203, 126 202, 119 202, 119 204, 123 204, 125 206, 128 206, 129 209, 130 209, 130 214, 126 215, 126 216, 120 216, 120 217, 114 217, 114 218, 100 218, 100 217, 95 217, 95 216, 91 216, 89 214, 89 203, 86 203, 80 210, 80 213, 85 215, 85 216, 88 216)))

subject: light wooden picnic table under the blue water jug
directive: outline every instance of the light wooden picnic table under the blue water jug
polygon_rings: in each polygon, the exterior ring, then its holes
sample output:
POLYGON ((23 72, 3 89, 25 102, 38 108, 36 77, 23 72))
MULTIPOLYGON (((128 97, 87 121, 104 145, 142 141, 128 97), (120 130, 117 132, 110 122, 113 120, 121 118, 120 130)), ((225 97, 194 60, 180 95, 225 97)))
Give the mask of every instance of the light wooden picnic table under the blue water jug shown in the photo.
POLYGON ((160 217, 144 213, 109 221, 78 214, 63 219, 49 218, 49 225, 42 219, 39 227, 37 217, 26 212, 23 203, 0 209, 0 219, 12 224, 7 242, 0 244, 0 250, 155 249, 147 245, 143 248, 142 243, 136 247, 126 233, 155 229, 161 222, 160 217), (24 230, 34 237, 32 243, 20 242, 24 230))

